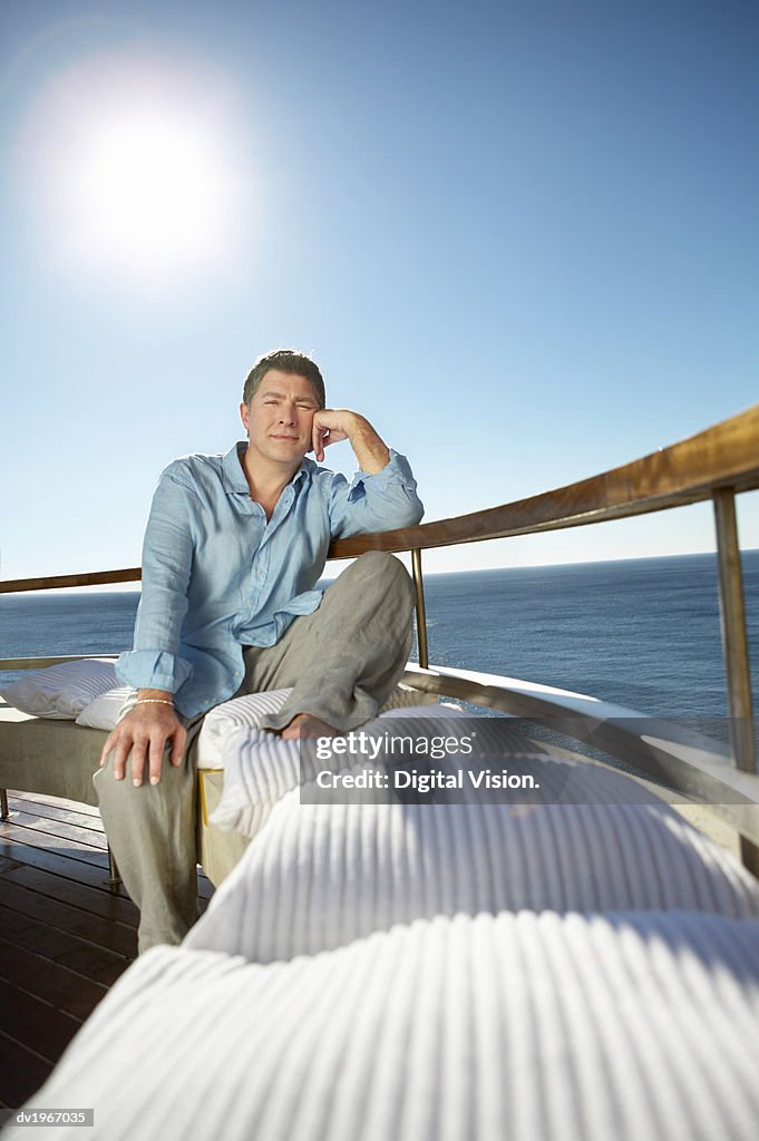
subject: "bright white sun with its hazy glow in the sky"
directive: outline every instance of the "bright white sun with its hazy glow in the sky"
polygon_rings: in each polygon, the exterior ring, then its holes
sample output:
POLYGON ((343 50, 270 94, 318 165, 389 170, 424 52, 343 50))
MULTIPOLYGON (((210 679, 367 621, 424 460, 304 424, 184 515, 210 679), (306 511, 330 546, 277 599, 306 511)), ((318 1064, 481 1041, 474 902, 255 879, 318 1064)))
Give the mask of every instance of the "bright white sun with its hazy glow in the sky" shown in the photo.
POLYGON ((208 75, 165 64, 99 60, 59 76, 30 116, 22 163, 53 251, 140 285, 233 260, 248 204, 234 118, 208 75))

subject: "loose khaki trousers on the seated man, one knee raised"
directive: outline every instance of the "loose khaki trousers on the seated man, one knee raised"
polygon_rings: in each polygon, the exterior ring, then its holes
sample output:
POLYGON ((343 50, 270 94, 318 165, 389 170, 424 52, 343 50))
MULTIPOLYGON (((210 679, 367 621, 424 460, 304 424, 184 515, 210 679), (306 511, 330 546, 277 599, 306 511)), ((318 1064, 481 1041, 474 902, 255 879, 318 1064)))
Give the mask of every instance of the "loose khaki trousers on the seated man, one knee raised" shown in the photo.
MULTIPOLYGON (((369 551, 276 646, 244 649, 245 679, 235 696, 292 686, 266 728, 282 729, 297 713, 312 713, 341 731, 355 729, 377 714, 403 673, 412 610, 403 564, 369 551)), ((184 719, 185 755, 177 768, 164 761, 160 784, 136 788, 128 777, 114 780, 112 756, 94 778, 108 842, 139 907, 140 953, 180 942, 197 917, 195 744, 202 720, 184 719)))

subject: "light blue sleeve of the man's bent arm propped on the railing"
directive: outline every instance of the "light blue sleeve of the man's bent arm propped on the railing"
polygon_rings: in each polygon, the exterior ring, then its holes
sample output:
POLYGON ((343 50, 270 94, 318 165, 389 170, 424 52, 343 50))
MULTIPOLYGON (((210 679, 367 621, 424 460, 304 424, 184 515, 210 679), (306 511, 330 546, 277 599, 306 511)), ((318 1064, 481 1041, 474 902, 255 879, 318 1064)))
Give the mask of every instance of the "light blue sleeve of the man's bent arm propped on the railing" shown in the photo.
POLYGON ((377 475, 357 471, 349 484, 341 476, 333 479, 330 525, 337 539, 414 527, 423 513, 409 461, 393 450, 377 475))

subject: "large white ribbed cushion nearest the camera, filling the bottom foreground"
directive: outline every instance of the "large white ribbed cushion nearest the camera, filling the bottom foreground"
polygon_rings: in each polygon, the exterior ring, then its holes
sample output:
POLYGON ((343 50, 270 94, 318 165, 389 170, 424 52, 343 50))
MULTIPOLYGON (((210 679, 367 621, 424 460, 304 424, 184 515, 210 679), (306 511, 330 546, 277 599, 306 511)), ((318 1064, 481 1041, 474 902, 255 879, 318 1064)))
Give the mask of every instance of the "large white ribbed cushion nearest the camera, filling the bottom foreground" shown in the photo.
POLYGON ((757 921, 457 916, 269 966, 151 950, 31 1104, 103 1141, 756 1141, 758 1036, 757 921))

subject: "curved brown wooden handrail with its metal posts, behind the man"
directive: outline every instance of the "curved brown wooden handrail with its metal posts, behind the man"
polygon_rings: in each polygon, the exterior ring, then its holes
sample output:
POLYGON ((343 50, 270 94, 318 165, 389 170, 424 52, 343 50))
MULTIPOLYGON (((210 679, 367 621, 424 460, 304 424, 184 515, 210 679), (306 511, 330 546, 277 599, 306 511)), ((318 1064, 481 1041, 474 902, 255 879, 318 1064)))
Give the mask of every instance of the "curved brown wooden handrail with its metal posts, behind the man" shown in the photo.
MULTIPOLYGON (((743 602, 740 548, 735 519, 735 495, 759 487, 759 405, 732 416, 688 439, 662 448, 632 463, 571 484, 556 491, 501 507, 475 511, 381 534, 344 539, 332 543, 331 559, 353 558, 368 550, 411 551, 417 589, 419 671, 409 678, 418 688, 475 701, 485 690, 487 703, 504 712, 524 710, 523 682, 483 687, 462 671, 429 666, 425 618, 421 551, 459 543, 475 543, 514 535, 531 535, 565 527, 624 519, 653 511, 711 500, 714 507, 716 545, 719 564, 720 617, 727 674, 730 750, 735 766, 756 774, 753 712, 743 602), (498 694, 496 694, 498 690, 498 694), (495 695, 495 697, 494 697, 495 695)), ((0 582, 0 593, 138 582, 139 567, 89 574, 54 575, 0 582)), ((5 663, 0 663, 2 667, 5 663)), ((6 666, 8 667, 8 666, 6 666)), ((483 675, 478 675, 482 678, 483 675)), ((506 682, 509 679, 501 679, 506 682)), ((556 691, 555 706, 563 709, 556 691)), ((632 712, 632 711, 628 711, 632 712)), ((607 735, 608 736, 608 735, 607 735)), ((617 744, 624 738, 622 734, 617 744)), ((609 742, 614 744, 614 733, 609 742)), ((625 738, 627 739, 627 738, 625 738)), ((678 746, 679 747, 679 746, 678 746)), ((717 754, 714 754, 717 756, 717 754)), ((724 760, 724 759, 722 759, 724 760)), ((717 756, 718 769, 721 761, 717 756)), ((659 762, 652 760, 652 768, 659 762)), ((724 771, 724 769, 720 769, 724 771)), ((670 778, 672 772, 668 770, 670 778)), ((677 777, 673 778, 677 784, 677 777)), ((759 782, 759 777, 750 782, 759 782)), ((718 782, 719 783, 719 782, 718 782)), ((685 782, 687 784, 687 780, 685 782)), ((729 784, 729 783, 728 783, 729 784)), ((712 792, 718 784, 710 786, 712 792)), ((727 785, 725 785, 727 787, 727 785)), ((759 800, 759 798, 757 798, 759 800)), ((753 809, 754 818, 759 809, 753 809)), ((734 814, 735 816, 735 814, 734 814)), ((745 823, 745 822, 744 822, 745 823)), ((759 840, 759 826, 743 827, 759 840)), ((756 849, 752 863, 759 867, 756 849)))

